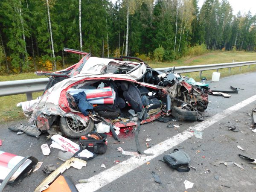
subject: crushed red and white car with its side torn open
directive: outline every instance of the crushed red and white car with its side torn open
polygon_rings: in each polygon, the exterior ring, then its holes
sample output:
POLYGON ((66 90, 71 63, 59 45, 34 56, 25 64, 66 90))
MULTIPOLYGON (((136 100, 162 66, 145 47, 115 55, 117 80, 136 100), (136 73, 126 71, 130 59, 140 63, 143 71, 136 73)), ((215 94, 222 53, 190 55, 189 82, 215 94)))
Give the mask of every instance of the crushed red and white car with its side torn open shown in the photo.
POLYGON ((119 128, 170 115, 195 121, 207 108, 207 84, 175 74, 175 67, 160 72, 138 58, 64 50, 84 56, 65 70, 36 72, 50 76, 49 82, 44 94, 23 108, 41 132, 60 128, 67 137, 79 138, 99 121, 119 128))

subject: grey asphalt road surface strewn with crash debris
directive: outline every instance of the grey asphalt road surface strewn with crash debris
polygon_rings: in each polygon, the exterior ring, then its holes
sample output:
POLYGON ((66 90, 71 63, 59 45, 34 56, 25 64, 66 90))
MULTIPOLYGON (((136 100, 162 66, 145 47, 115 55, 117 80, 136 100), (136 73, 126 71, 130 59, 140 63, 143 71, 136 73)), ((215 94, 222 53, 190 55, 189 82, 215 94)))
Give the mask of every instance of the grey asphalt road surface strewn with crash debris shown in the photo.
MULTIPOLYGON (((204 114, 210 117, 205 118, 205 123, 172 121, 171 123, 180 125, 180 128, 176 129, 166 128, 168 123, 157 121, 142 125, 139 138, 143 151, 148 149, 145 144, 146 138, 151 138, 152 140, 147 143, 150 144, 152 149, 157 149, 154 145, 160 146, 163 143, 163 146, 165 146, 164 141, 172 141, 172 138, 177 134, 180 134, 180 138, 186 137, 186 139, 177 142, 177 145, 175 142, 166 145, 166 150, 159 153, 157 157, 149 161, 146 158, 143 159, 143 157, 141 157, 141 159, 131 156, 117 157, 120 154, 119 151, 116 151, 118 147, 122 147, 125 151, 136 151, 134 134, 121 135, 120 138, 123 143, 121 142, 120 144, 113 144, 113 138, 108 137, 108 151, 104 155, 105 157, 88 161, 87 167, 83 167, 80 170, 70 168, 66 170, 63 175, 70 176, 76 184, 79 179, 90 180, 90 178, 99 178, 96 181, 92 180, 84 186, 80 185, 80 191, 90 191, 93 189, 92 187, 96 185, 102 186, 101 188, 96 187, 100 192, 256 191, 256 165, 249 164, 246 160, 238 156, 238 154, 243 154, 248 157, 256 158, 256 133, 251 131, 252 120, 251 116, 248 114, 251 113, 252 109, 256 106, 255 99, 248 100, 248 98, 256 95, 255 77, 256 73, 254 72, 230 76, 220 79, 219 82, 209 81, 212 90, 229 90, 230 85, 232 85, 233 87, 239 88, 239 93, 232 94, 231 98, 209 96, 211 103, 209 103, 204 114), (239 103, 244 100, 248 102, 240 105, 239 103), (236 106, 232 108, 233 111, 229 112, 226 110, 234 105, 236 106), (227 113, 224 110, 226 110, 227 113), (222 116, 218 116, 218 114, 222 116), (210 118, 213 118, 214 121, 210 118), (229 131, 227 125, 230 123, 236 125, 239 132, 229 131), (203 139, 198 139, 195 136, 186 136, 184 131, 188 130, 189 127, 204 127, 203 139), (237 145, 240 145, 244 151, 237 148, 237 145), (174 148, 179 148, 189 154, 191 157, 191 166, 195 167, 197 171, 192 169, 190 172, 180 173, 159 161, 163 158, 163 155, 169 154, 174 148), (118 164, 115 163, 116 160, 119 160, 121 163, 124 162, 122 169, 117 167, 118 164), (244 170, 237 166, 227 167, 224 164, 213 166, 210 164, 216 160, 238 163, 244 170), (138 164, 138 162, 141 161, 143 161, 143 163, 141 165, 138 164), (129 164, 126 162, 129 162, 129 164), (146 162, 150 162, 150 164, 146 164, 146 162), (100 168, 102 163, 105 164, 106 169, 100 168), (156 167, 158 169, 156 169, 156 167), (130 170, 128 173, 124 171, 126 168, 130 170), (114 170, 113 174, 109 174, 107 172, 108 170, 114 170), (151 171, 156 172, 157 175, 160 176, 161 184, 154 182, 151 171), (100 176, 99 174, 102 175, 102 178, 98 177, 100 176), (104 177, 109 177, 109 179, 113 181, 108 183, 104 177), (218 179, 215 179, 215 177, 218 177, 218 179), (191 189, 185 189, 185 185, 183 184, 185 180, 194 183, 194 186, 191 189)), ((39 161, 44 162, 43 165, 54 164, 58 167, 63 163, 61 160, 57 159, 58 149, 52 148, 49 156, 42 154, 41 145, 43 143, 51 144, 50 140, 46 140, 46 134, 36 139, 25 134, 17 135, 15 132, 7 129, 9 126, 16 125, 17 123, 26 123, 26 121, 7 122, 6 125, 0 125, 0 139, 3 140, 3 144, 0 146, 1 151, 7 151, 23 157, 36 157, 39 161)), ((73 141, 77 142, 77 140, 73 141)), ((46 177, 42 169, 43 166, 29 177, 26 177, 17 186, 6 186, 5 191, 33 191, 46 177)))

